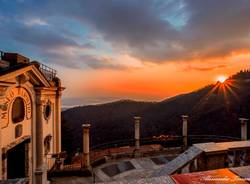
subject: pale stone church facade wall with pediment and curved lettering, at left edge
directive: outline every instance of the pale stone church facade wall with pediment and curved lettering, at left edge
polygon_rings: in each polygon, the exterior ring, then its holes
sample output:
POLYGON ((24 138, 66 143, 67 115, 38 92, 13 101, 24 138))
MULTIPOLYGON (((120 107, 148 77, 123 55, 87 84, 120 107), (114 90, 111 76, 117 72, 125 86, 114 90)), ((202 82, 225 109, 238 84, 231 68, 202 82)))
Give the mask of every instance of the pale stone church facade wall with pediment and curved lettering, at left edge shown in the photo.
MULTIPOLYGON (((31 182, 35 182, 36 175, 35 173, 42 169, 43 175, 46 175, 44 170, 49 169, 53 166, 53 160, 49 160, 51 163, 49 167, 47 166, 48 159, 52 154, 60 152, 61 144, 60 141, 60 121, 61 121, 61 106, 58 101, 58 98, 61 98, 58 95, 57 87, 53 86, 42 86, 34 87, 34 85, 29 81, 25 80, 23 83, 18 84, 15 79, 15 75, 12 75, 12 78, 8 78, 9 83, 13 82, 11 85, 2 85, 0 84, 0 150, 2 148, 8 148, 10 145, 18 144, 18 140, 24 137, 30 137, 29 144, 29 175, 31 182), (23 121, 18 123, 12 122, 12 106, 13 102, 17 97, 21 97, 24 100, 25 106, 25 118, 23 121), (41 103, 41 106, 38 104, 41 103), (50 104, 51 113, 49 117, 45 117, 44 111, 46 104, 50 104), (41 107, 41 108, 40 108, 41 107), (38 116, 37 109, 41 109, 42 113, 38 116), (41 128, 37 128, 37 123, 41 122, 41 128), (20 137, 15 137, 15 127, 17 125, 22 125, 22 134, 20 137), (38 141, 37 133, 42 132, 42 140, 38 141), (44 148, 44 139, 46 136, 52 136, 50 141, 50 151, 45 154, 44 148), (38 145, 38 142, 41 144, 38 145), (42 146, 41 146, 42 145, 42 146), (39 147, 40 146, 40 147, 39 147), (40 149, 41 148, 41 149, 40 149), (41 155, 43 158, 42 166, 38 166, 37 159, 39 159, 37 152, 41 150, 41 155)), ((1 78, 0 78, 1 82, 1 78)), ((1 151, 0 151, 1 155, 1 151)), ((6 167, 6 160, 4 164, 1 163, 0 159, 0 180, 7 179, 6 171, 2 172, 2 165, 6 167)))

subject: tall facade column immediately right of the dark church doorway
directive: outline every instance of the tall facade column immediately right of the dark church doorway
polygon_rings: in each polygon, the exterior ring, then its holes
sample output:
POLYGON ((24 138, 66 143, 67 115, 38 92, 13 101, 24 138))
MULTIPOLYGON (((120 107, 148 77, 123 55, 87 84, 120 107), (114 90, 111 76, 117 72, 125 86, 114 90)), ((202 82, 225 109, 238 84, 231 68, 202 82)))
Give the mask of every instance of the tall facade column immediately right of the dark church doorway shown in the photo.
POLYGON ((47 174, 43 160, 43 104, 41 96, 37 96, 36 103, 36 184, 45 184, 47 182, 47 174))

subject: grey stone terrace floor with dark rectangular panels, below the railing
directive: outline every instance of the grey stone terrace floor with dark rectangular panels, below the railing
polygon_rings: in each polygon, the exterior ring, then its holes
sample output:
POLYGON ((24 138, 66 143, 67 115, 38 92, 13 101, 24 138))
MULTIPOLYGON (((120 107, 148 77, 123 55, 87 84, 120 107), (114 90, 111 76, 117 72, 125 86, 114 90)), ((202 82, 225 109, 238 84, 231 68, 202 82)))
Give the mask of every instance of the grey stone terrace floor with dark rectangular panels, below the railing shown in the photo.
MULTIPOLYGON (((157 177, 151 178, 153 171, 156 169, 162 168, 164 164, 155 164, 152 161, 152 158, 156 158, 159 160, 166 160, 175 158, 177 155, 159 155, 154 157, 143 157, 143 158, 133 158, 133 159, 123 159, 123 160, 111 160, 108 163, 102 164, 94 168, 94 176, 93 177, 62 177, 62 178, 53 178, 52 184, 90 184, 95 182, 113 182, 113 183, 145 183, 146 180, 152 181, 151 183, 169 183, 166 178, 169 177, 157 177), (124 165, 124 163, 126 163, 124 165), (129 163, 129 164, 128 164, 129 163), (129 168, 126 167, 129 165, 129 168), (131 167, 133 166, 133 168, 131 167), (110 167, 111 166, 111 167, 110 167), (104 168, 109 168, 108 173, 105 173, 104 168), (112 171, 112 168, 114 169, 112 171), (104 170, 103 170, 104 169, 104 170), (123 171, 123 172, 120 172, 123 171), (111 174, 110 174, 111 173, 111 174), (109 175, 110 174, 110 175, 109 175), (132 180, 132 181, 131 181, 132 180), (164 182, 165 181, 165 182, 164 182)), ((170 181, 170 180, 169 180, 170 181)))

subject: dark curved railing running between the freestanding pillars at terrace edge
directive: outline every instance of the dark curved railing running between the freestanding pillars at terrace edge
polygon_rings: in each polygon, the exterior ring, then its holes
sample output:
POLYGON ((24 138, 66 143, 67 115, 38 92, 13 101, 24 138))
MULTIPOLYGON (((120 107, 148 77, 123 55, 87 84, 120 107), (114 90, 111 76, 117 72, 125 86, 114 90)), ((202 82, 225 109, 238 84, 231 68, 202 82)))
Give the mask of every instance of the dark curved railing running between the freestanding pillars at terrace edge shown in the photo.
MULTIPOLYGON (((228 141, 240 141, 238 137, 221 136, 221 135, 189 135, 188 145, 204 142, 228 142, 228 141)), ((159 136, 140 139, 140 145, 161 145, 163 148, 176 149, 183 148, 182 136, 159 136), (161 139, 163 138, 163 139, 161 139)), ((91 163, 101 162, 104 156, 107 155, 120 155, 122 157, 130 157, 134 155, 134 139, 117 140, 104 144, 99 144, 91 147, 91 163)))

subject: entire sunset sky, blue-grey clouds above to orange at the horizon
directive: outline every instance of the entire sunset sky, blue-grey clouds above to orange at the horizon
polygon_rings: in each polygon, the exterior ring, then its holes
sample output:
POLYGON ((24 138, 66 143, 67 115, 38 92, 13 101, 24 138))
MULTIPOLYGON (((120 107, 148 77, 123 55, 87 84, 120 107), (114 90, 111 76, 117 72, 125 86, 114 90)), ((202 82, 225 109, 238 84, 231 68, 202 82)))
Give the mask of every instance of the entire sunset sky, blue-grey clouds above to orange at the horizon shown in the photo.
POLYGON ((0 0, 0 50, 55 68, 63 106, 160 101, 250 68, 250 0, 0 0))

